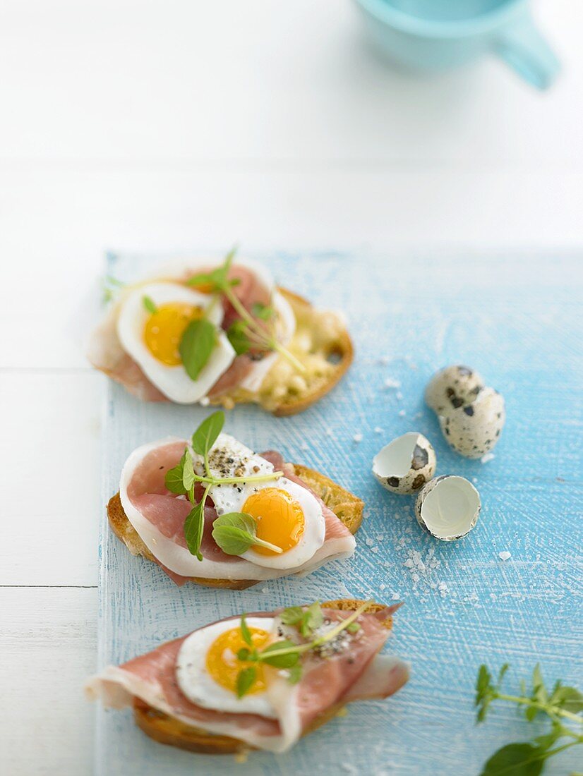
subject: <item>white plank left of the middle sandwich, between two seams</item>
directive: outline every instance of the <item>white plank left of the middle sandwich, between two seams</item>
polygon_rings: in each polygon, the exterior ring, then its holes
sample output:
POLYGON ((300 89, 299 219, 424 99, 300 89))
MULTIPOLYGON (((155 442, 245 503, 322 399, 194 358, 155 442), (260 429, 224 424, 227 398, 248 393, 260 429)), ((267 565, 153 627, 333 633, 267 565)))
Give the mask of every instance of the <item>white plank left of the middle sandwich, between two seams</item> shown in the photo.
POLYGON ((95 584, 102 378, 0 372, 0 585, 95 584))

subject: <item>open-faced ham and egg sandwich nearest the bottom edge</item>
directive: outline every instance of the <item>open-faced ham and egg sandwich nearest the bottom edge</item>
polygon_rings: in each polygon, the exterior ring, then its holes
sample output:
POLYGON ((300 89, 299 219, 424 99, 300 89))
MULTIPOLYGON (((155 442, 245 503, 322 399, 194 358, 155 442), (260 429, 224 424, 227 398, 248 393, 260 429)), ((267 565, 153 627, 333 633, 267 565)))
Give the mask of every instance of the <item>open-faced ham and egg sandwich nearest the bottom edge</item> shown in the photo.
POLYGON ((161 743, 283 752, 347 703, 387 698, 408 665, 380 655, 398 605, 327 601, 206 625, 88 681, 161 743))

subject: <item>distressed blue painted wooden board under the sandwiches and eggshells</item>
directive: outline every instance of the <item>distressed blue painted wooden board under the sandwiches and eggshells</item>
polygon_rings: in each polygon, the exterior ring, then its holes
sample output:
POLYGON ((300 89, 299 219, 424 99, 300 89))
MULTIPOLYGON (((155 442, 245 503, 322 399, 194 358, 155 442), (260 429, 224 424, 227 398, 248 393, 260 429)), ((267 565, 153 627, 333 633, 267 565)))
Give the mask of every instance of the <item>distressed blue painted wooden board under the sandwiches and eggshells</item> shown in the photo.
MULTIPOLYGON (((131 281, 167 258, 113 255, 108 271, 131 281)), ((255 449, 276 447, 321 469, 362 497, 356 555, 304 580, 242 592, 179 589, 153 563, 130 556, 104 517, 99 666, 241 611, 372 597, 405 602, 388 648, 411 661, 411 681, 387 702, 352 705, 290 753, 252 753, 245 764, 161 746, 134 727, 129 711, 99 709, 96 773, 477 774, 496 748, 540 728, 503 705, 484 726, 474 725, 481 662, 495 669, 512 663, 513 689, 537 660, 549 681, 583 679, 583 256, 272 251, 252 258, 319 306, 345 310, 356 360, 340 386, 304 414, 275 418, 238 407, 226 430, 255 449), (508 421, 495 459, 485 464, 453 453, 422 401, 432 373, 455 362, 478 369, 505 396, 508 421), (387 379, 401 388, 387 388, 387 379), (481 493, 480 521, 460 542, 425 535, 411 498, 388 494, 370 473, 378 449, 413 430, 434 445, 437 473, 466 476, 481 493), (353 441, 356 434, 362 442, 353 441), (512 553, 505 562, 503 550, 512 553), (425 569, 411 567, 419 559, 425 569)), ((104 514, 131 450, 168 434, 187 436, 205 414, 201 407, 141 404, 109 383, 104 514)), ((547 772, 567 773, 576 760, 567 752, 547 772)))

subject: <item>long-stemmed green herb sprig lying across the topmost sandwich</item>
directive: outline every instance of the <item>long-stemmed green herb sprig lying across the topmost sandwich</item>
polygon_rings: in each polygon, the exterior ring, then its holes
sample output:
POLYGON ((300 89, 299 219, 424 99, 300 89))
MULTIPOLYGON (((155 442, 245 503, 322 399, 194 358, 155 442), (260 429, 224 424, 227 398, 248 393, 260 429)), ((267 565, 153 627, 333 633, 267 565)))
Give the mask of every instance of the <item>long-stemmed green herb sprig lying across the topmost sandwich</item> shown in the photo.
POLYGON ((200 272, 198 275, 193 275, 187 281, 188 285, 210 286, 211 293, 214 293, 217 298, 225 296, 234 307, 239 318, 228 328, 227 338, 238 355, 247 353, 252 348, 276 351, 284 359, 287 359, 298 372, 305 372, 304 364, 277 340, 273 327, 269 325, 275 315, 275 310, 269 305, 255 303, 251 313, 249 313, 233 292, 233 287, 238 285, 239 281, 237 279, 229 280, 227 275, 236 252, 237 248, 229 251, 224 263, 212 272, 200 272))

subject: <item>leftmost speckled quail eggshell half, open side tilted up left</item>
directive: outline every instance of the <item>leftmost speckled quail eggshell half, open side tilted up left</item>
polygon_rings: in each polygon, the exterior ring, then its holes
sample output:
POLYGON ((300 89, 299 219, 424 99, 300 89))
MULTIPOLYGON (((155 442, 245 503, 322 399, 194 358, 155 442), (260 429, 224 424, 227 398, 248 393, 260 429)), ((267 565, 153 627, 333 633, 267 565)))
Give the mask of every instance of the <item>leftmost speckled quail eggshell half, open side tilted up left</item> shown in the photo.
POLYGON ((411 494, 436 473, 436 452, 417 431, 397 437, 373 458, 373 474, 393 493, 411 494))

